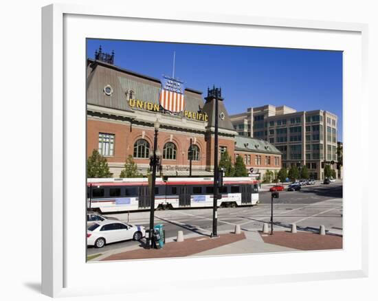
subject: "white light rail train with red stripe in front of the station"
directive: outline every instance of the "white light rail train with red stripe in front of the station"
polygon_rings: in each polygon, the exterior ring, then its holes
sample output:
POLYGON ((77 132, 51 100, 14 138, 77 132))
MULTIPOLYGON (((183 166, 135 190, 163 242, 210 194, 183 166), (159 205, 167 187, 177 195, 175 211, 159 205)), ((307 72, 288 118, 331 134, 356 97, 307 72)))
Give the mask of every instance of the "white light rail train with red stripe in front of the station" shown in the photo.
MULTIPOLYGON (((213 206, 214 182, 208 178, 157 178, 155 208, 209 208, 213 206)), ((219 188, 219 207, 256 205, 258 181, 249 177, 225 177, 219 188)), ((151 206, 147 178, 88 179, 88 209, 98 212, 148 210, 151 206)))

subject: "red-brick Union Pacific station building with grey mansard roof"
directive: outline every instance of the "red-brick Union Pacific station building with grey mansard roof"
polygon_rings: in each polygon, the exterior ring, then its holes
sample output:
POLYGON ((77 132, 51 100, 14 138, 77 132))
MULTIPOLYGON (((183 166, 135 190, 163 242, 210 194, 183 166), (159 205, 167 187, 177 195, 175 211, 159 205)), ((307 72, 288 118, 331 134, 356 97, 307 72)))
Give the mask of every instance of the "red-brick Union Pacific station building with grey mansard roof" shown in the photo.
POLYGON ((215 116, 214 91, 208 89, 204 95, 175 78, 153 78, 116 66, 114 54, 100 48, 95 58, 87 59, 87 156, 98 150, 112 176, 119 177, 131 155, 146 175, 158 124, 162 175, 188 177, 191 147, 192 176, 211 177, 218 118, 219 160, 225 150, 232 160, 241 156, 249 175, 261 179, 267 170, 279 170, 280 151, 265 140, 238 135, 226 109, 232 100, 223 99, 221 93, 215 116))

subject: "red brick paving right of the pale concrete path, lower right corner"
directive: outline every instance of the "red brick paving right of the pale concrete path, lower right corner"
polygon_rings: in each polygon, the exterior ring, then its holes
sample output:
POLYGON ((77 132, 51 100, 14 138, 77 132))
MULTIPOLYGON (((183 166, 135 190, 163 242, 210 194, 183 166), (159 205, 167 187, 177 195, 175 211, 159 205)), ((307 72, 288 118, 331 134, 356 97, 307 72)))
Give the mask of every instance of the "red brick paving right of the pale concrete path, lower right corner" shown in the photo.
POLYGON ((265 243, 291 247, 300 250, 318 249, 342 249, 342 236, 320 235, 313 232, 291 233, 288 231, 276 231, 273 235, 263 234, 261 237, 265 243))

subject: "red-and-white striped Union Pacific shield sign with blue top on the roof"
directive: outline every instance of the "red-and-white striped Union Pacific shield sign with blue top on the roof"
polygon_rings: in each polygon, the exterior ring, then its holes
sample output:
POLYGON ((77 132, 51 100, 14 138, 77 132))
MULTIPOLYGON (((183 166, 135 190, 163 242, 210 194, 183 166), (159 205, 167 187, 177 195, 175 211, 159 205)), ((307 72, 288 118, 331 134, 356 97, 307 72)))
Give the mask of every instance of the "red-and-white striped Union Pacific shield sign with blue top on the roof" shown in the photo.
POLYGON ((175 78, 164 76, 162 78, 162 90, 159 103, 166 111, 178 113, 184 111, 184 82, 175 78))

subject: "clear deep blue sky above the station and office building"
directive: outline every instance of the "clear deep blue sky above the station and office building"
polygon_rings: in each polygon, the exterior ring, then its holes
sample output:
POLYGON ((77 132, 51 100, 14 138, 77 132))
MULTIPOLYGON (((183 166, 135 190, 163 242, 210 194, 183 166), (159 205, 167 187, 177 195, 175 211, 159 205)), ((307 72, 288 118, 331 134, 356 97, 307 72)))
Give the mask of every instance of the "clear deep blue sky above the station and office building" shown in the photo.
POLYGON ((342 52, 89 39, 89 58, 99 45, 115 65, 155 78, 172 76, 175 52, 175 77, 204 97, 221 87, 229 114, 264 104, 330 111, 342 141, 342 52))

